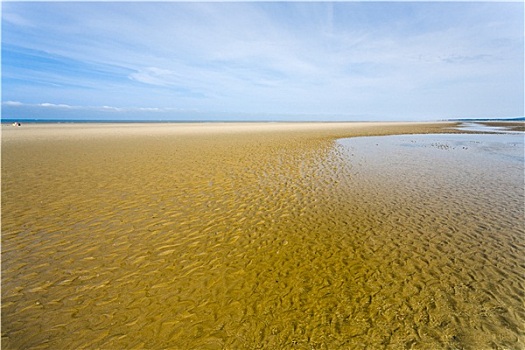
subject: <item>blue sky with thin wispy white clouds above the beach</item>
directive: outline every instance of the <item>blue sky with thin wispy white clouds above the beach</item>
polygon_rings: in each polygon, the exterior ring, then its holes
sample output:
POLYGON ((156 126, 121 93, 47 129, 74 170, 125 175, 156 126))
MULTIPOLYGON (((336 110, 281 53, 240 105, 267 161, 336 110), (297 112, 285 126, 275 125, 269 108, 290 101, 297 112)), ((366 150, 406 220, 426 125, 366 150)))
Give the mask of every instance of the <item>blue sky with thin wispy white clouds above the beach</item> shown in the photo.
POLYGON ((2 118, 524 115, 518 2, 3 2, 2 118))

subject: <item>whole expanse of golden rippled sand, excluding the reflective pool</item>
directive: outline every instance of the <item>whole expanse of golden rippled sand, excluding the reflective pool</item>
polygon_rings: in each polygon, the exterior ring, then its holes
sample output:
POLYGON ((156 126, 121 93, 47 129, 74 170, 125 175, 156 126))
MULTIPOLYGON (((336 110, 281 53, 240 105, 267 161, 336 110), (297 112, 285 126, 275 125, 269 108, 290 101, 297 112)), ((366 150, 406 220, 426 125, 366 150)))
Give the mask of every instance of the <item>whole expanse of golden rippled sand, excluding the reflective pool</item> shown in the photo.
POLYGON ((335 142, 452 126, 3 126, 2 348, 523 348, 523 184, 335 142))

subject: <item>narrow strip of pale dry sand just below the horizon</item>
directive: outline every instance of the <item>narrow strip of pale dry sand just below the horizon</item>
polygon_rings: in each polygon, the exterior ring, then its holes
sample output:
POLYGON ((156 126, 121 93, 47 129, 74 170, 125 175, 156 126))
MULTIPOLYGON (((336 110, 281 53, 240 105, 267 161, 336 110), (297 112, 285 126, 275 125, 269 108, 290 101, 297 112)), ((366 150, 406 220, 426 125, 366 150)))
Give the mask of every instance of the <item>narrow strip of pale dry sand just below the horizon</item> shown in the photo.
POLYGON ((224 134, 310 133, 339 137, 440 131, 457 123, 410 122, 246 122, 246 123, 49 123, 24 124, 22 128, 2 125, 4 142, 14 140, 73 139, 104 137, 204 136, 224 134))

